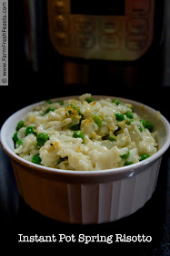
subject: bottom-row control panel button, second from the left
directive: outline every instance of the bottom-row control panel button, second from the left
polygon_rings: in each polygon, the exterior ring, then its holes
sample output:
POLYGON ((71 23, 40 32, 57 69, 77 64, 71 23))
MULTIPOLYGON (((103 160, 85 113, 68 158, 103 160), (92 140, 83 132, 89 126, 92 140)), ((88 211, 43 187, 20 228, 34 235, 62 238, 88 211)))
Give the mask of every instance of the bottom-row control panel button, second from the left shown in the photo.
POLYGON ((77 34, 76 46, 78 48, 93 48, 95 45, 95 37, 92 35, 77 34))

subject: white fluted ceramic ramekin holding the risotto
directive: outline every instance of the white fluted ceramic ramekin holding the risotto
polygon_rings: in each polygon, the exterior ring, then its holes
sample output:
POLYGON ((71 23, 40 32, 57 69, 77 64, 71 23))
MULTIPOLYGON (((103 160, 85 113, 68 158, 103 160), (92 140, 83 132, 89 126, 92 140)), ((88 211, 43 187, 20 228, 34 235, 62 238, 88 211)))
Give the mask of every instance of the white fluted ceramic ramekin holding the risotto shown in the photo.
MULTIPOLYGON (((57 100, 77 98, 64 97, 57 100)), ((110 96, 93 96, 113 98, 110 96)), ((116 169, 99 171, 65 171, 35 165, 15 155, 13 135, 16 124, 42 102, 15 112, 4 123, 0 139, 10 156, 15 180, 25 203, 42 215, 69 223, 104 223, 121 219, 145 205, 155 191, 162 155, 170 144, 170 124, 163 115, 136 101, 135 112, 150 120, 158 131, 159 150, 144 161, 116 169)))

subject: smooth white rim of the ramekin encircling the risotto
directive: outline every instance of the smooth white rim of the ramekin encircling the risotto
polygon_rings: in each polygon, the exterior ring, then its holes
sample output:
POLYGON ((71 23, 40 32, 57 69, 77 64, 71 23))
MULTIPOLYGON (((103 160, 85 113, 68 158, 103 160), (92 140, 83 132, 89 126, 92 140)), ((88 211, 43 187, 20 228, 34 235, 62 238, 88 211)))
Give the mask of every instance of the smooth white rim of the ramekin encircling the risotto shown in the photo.
MULTIPOLYGON (((80 95, 57 97, 57 98, 51 99, 51 101, 69 100, 69 99, 73 99, 73 98, 78 98, 79 96, 80 95)), ((152 107, 145 105, 144 103, 141 103, 139 101, 133 101, 133 100, 120 98, 120 97, 116 97, 116 96, 110 96, 110 95, 92 95, 92 96, 96 100, 97 100, 97 98, 99 98, 99 99, 106 99, 106 98, 115 99, 116 98, 119 101, 123 101, 125 103, 137 104, 138 106, 145 107, 145 109, 147 109, 151 112, 156 112, 156 110, 153 109, 152 107)), ((24 112, 24 111, 26 111, 26 109, 33 108, 36 105, 42 104, 44 102, 45 101, 39 101, 39 102, 30 104, 30 105, 27 105, 24 108, 13 113, 6 119, 5 123, 1 127, 1 131, 0 131, 0 144, 2 145, 5 153, 7 155, 9 155, 13 160, 18 162, 19 164, 25 165, 25 166, 29 167, 30 169, 39 171, 40 174, 45 173, 45 174, 62 175, 62 176, 103 176, 103 175, 107 176, 107 175, 112 175, 112 174, 114 174, 114 175, 124 174, 124 173, 127 174, 128 172, 132 172, 132 170, 135 171, 136 169, 139 169, 141 167, 144 167, 145 165, 149 165, 149 164, 155 162, 155 160, 157 160, 159 157, 161 157, 165 153, 165 151, 168 149, 168 147, 170 145, 170 123, 166 120, 165 116, 161 113, 161 121, 165 125, 166 136, 168 139, 166 139, 165 144, 163 144, 163 146, 154 155, 150 156, 149 158, 147 158, 139 163, 135 163, 133 165, 126 165, 126 166, 122 166, 122 167, 118 167, 118 168, 111 168, 111 169, 105 169, 105 170, 92 170, 92 171, 63 170, 63 169, 56 169, 53 167, 46 167, 43 165, 36 165, 36 164, 31 163, 14 153, 14 151, 9 147, 9 145, 7 144, 7 142, 5 140, 5 128, 12 119, 15 119, 15 116, 18 115, 19 112, 24 112)))

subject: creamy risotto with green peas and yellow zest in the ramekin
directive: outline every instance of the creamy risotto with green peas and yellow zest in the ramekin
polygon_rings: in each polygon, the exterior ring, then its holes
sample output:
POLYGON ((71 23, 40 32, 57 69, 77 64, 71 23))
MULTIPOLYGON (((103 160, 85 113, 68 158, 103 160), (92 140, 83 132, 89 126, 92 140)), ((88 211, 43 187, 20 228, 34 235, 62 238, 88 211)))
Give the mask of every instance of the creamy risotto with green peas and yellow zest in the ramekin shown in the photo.
POLYGON ((15 154, 64 170, 91 171, 132 165, 157 151, 153 125, 133 106, 110 98, 45 101, 16 127, 15 154))

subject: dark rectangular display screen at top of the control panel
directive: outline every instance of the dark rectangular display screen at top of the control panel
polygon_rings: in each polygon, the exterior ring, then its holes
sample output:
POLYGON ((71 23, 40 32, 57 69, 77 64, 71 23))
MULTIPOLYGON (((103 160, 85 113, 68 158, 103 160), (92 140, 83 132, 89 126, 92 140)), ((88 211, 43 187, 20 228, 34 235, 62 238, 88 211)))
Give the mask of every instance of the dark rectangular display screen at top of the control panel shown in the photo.
POLYGON ((125 0, 71 0, 71 13, 92 16, 124 16, 125 0))

